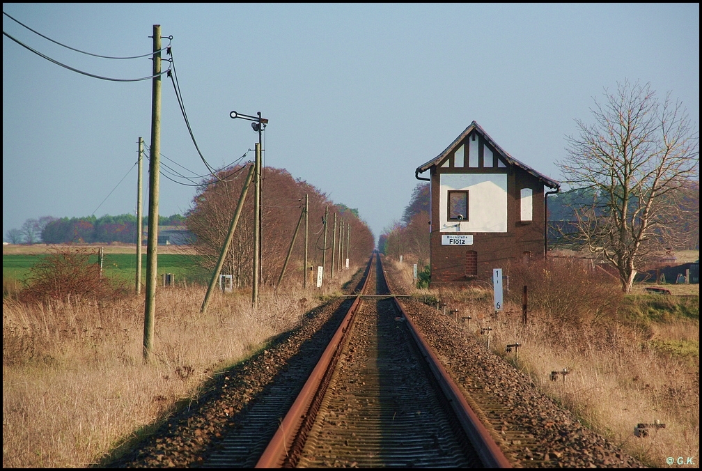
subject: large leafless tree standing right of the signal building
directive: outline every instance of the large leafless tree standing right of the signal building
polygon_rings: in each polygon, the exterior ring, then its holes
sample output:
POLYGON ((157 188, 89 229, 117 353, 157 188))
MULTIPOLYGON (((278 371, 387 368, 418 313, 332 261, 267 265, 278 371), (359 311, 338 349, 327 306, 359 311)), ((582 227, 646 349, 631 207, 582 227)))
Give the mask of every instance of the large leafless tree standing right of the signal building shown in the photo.
POLYGON ((699 178, 699 135, 670 92, 659 102, 650 84, 604 90, 591 110, 594 124, 576 120, 569 157, 559 161, 566 183, 589 188, 595 198, 576 208, 582 242, 613 265, 629 293, 637 268, 673 237, 670 224, 679 196, 699 178))

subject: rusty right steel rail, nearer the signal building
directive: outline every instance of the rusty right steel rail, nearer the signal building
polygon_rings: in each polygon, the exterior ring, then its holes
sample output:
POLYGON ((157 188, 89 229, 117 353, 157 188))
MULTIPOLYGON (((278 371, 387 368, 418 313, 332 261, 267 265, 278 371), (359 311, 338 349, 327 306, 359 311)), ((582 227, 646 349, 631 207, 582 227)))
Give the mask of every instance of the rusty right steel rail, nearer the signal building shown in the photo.
MULTIPOLYGON (((378 259, 380 260, 380 258, 378 259)), ((388 284, 388 277, 385 276, 385 267, 383 267, 382 260, 380 262, 380 268, 383 273, 385 286, 388 287, 388 292, 392 292, 392 290, 390 290, 390 284, 388 284)), ((468 435, 468 439, 470 439, 475 451, 477 451, 483 465, 485 467, 512 467, 512 463, 510 463, 510 460, 507 459, 505 453, 500 449, 500 446, 498 446, 488 430, 482 422, 480 422, 475 411, 471 409, 465 397, 463 397, 461 390, 458 389, 456 383, 454 383, 451 376, 449 376, 449 372, 446 371, 439 357, 437 357, 437 354, 427 343, 416 324, 414 324, 412 319, 407 315, 402 303, 400 303, 396 296, 393 296, 392 299, 395 301, 397 310, 402 312, 402 317, 406 319, 406 324, 412 338, 414 338, 418 349, 427 361, 430 370, 439 383, 439 387, 441 387, 446 399, 449 401, 449 404, 451 404, 451 409, 456 413, 459 423, 461 423, 465 434, 468 435)))

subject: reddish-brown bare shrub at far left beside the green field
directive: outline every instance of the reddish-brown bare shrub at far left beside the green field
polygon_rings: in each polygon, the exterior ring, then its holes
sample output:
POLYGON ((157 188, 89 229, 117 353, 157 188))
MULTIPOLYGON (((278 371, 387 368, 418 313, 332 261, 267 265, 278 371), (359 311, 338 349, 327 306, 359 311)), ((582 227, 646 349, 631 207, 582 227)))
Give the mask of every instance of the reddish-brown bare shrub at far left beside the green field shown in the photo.
POLYGON ((119 297, 126 293, 124 282, 100 275, 100 266, 88 263, 91 253, 83 248, 51 248, 29 269, 25 288, 18 293, 22 303, 47 304, 119 297))

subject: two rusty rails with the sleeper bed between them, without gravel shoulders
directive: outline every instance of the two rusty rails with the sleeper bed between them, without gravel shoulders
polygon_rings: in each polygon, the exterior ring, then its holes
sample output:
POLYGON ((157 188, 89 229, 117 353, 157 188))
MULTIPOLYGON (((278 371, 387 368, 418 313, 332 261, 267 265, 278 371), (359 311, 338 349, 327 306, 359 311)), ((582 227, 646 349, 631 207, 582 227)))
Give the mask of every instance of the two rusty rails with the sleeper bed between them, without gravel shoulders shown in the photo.
POLYGON ((391 295, 377 255, 366 273, 256 466, 510 466, 391 295))

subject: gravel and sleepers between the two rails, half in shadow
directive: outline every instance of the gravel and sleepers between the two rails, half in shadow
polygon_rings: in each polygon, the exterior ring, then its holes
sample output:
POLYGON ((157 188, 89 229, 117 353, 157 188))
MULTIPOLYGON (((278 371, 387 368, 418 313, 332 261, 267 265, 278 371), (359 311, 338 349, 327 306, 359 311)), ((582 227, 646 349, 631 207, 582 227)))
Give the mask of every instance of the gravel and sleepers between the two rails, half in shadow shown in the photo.
POLYGON ((363 302, 297 467, 480 465, 397 315, 363 302))

